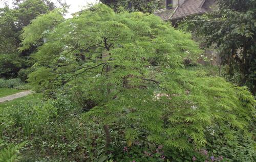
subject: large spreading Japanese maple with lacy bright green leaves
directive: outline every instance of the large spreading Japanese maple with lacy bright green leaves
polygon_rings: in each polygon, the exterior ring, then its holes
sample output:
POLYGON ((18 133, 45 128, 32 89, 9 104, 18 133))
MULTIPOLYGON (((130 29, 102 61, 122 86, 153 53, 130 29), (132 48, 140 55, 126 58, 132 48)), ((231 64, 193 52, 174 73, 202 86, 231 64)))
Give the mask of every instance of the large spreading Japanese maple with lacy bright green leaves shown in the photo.
MULTIPOLYGON (((35 22, 24 32, 39 28, 35 22)), ((253 96, 220 77, 183 69, 187 51, 200 53, 197 44, 154 15, 115 13, 100 4, 49 29, 47 38, 33 56, 37 69, 29 82, 50 91, 79 89, 83 101, 93 103, 84 123, 119 130, 118 139, 110 133, 113 149, 125 141, 138 153, 135 142, 142 140, 191 151, 206 146, 216 124, 225 130, 225 140, 234 130, 250 134, 253 96)))

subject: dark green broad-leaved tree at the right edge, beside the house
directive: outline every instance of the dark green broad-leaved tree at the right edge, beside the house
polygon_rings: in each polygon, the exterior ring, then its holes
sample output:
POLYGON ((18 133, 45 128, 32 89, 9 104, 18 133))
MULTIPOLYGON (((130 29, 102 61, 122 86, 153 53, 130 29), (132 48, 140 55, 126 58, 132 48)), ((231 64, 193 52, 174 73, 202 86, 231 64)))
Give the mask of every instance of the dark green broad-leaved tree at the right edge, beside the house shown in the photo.
POLYGON ((188 21, 190 31, 216 44, 222 63, 232 77, 239 71, 239 85, 256 93, 256 1, 218 1, 219 10, 188 21))

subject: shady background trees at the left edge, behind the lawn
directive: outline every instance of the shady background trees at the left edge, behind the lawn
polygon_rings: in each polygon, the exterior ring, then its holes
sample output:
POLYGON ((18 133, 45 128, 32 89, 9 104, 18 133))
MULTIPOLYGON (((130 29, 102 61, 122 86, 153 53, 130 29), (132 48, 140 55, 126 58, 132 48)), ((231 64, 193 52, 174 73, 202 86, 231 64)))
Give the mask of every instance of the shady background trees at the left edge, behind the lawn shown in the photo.
POLYGON ((18 52, 22 29, 38 15, 55 8, 50 1, 14 1, 13 8, 0 9, 0 77, 16 77, 22 68, 30 66, 28 56, 36 47, 18 52))

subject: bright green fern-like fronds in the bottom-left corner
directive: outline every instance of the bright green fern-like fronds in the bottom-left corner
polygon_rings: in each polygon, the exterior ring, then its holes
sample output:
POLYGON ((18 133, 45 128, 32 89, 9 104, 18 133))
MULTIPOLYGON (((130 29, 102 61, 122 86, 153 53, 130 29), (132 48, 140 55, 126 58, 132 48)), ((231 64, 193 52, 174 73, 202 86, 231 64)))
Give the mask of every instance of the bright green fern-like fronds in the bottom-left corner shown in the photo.
POLYGON ((0 140, 0 161, 1 162, 14 162, 22 158, 19 154, 19 150, 24 147, 25 143, 18 145, 7 145, 3 140, 0 140))

